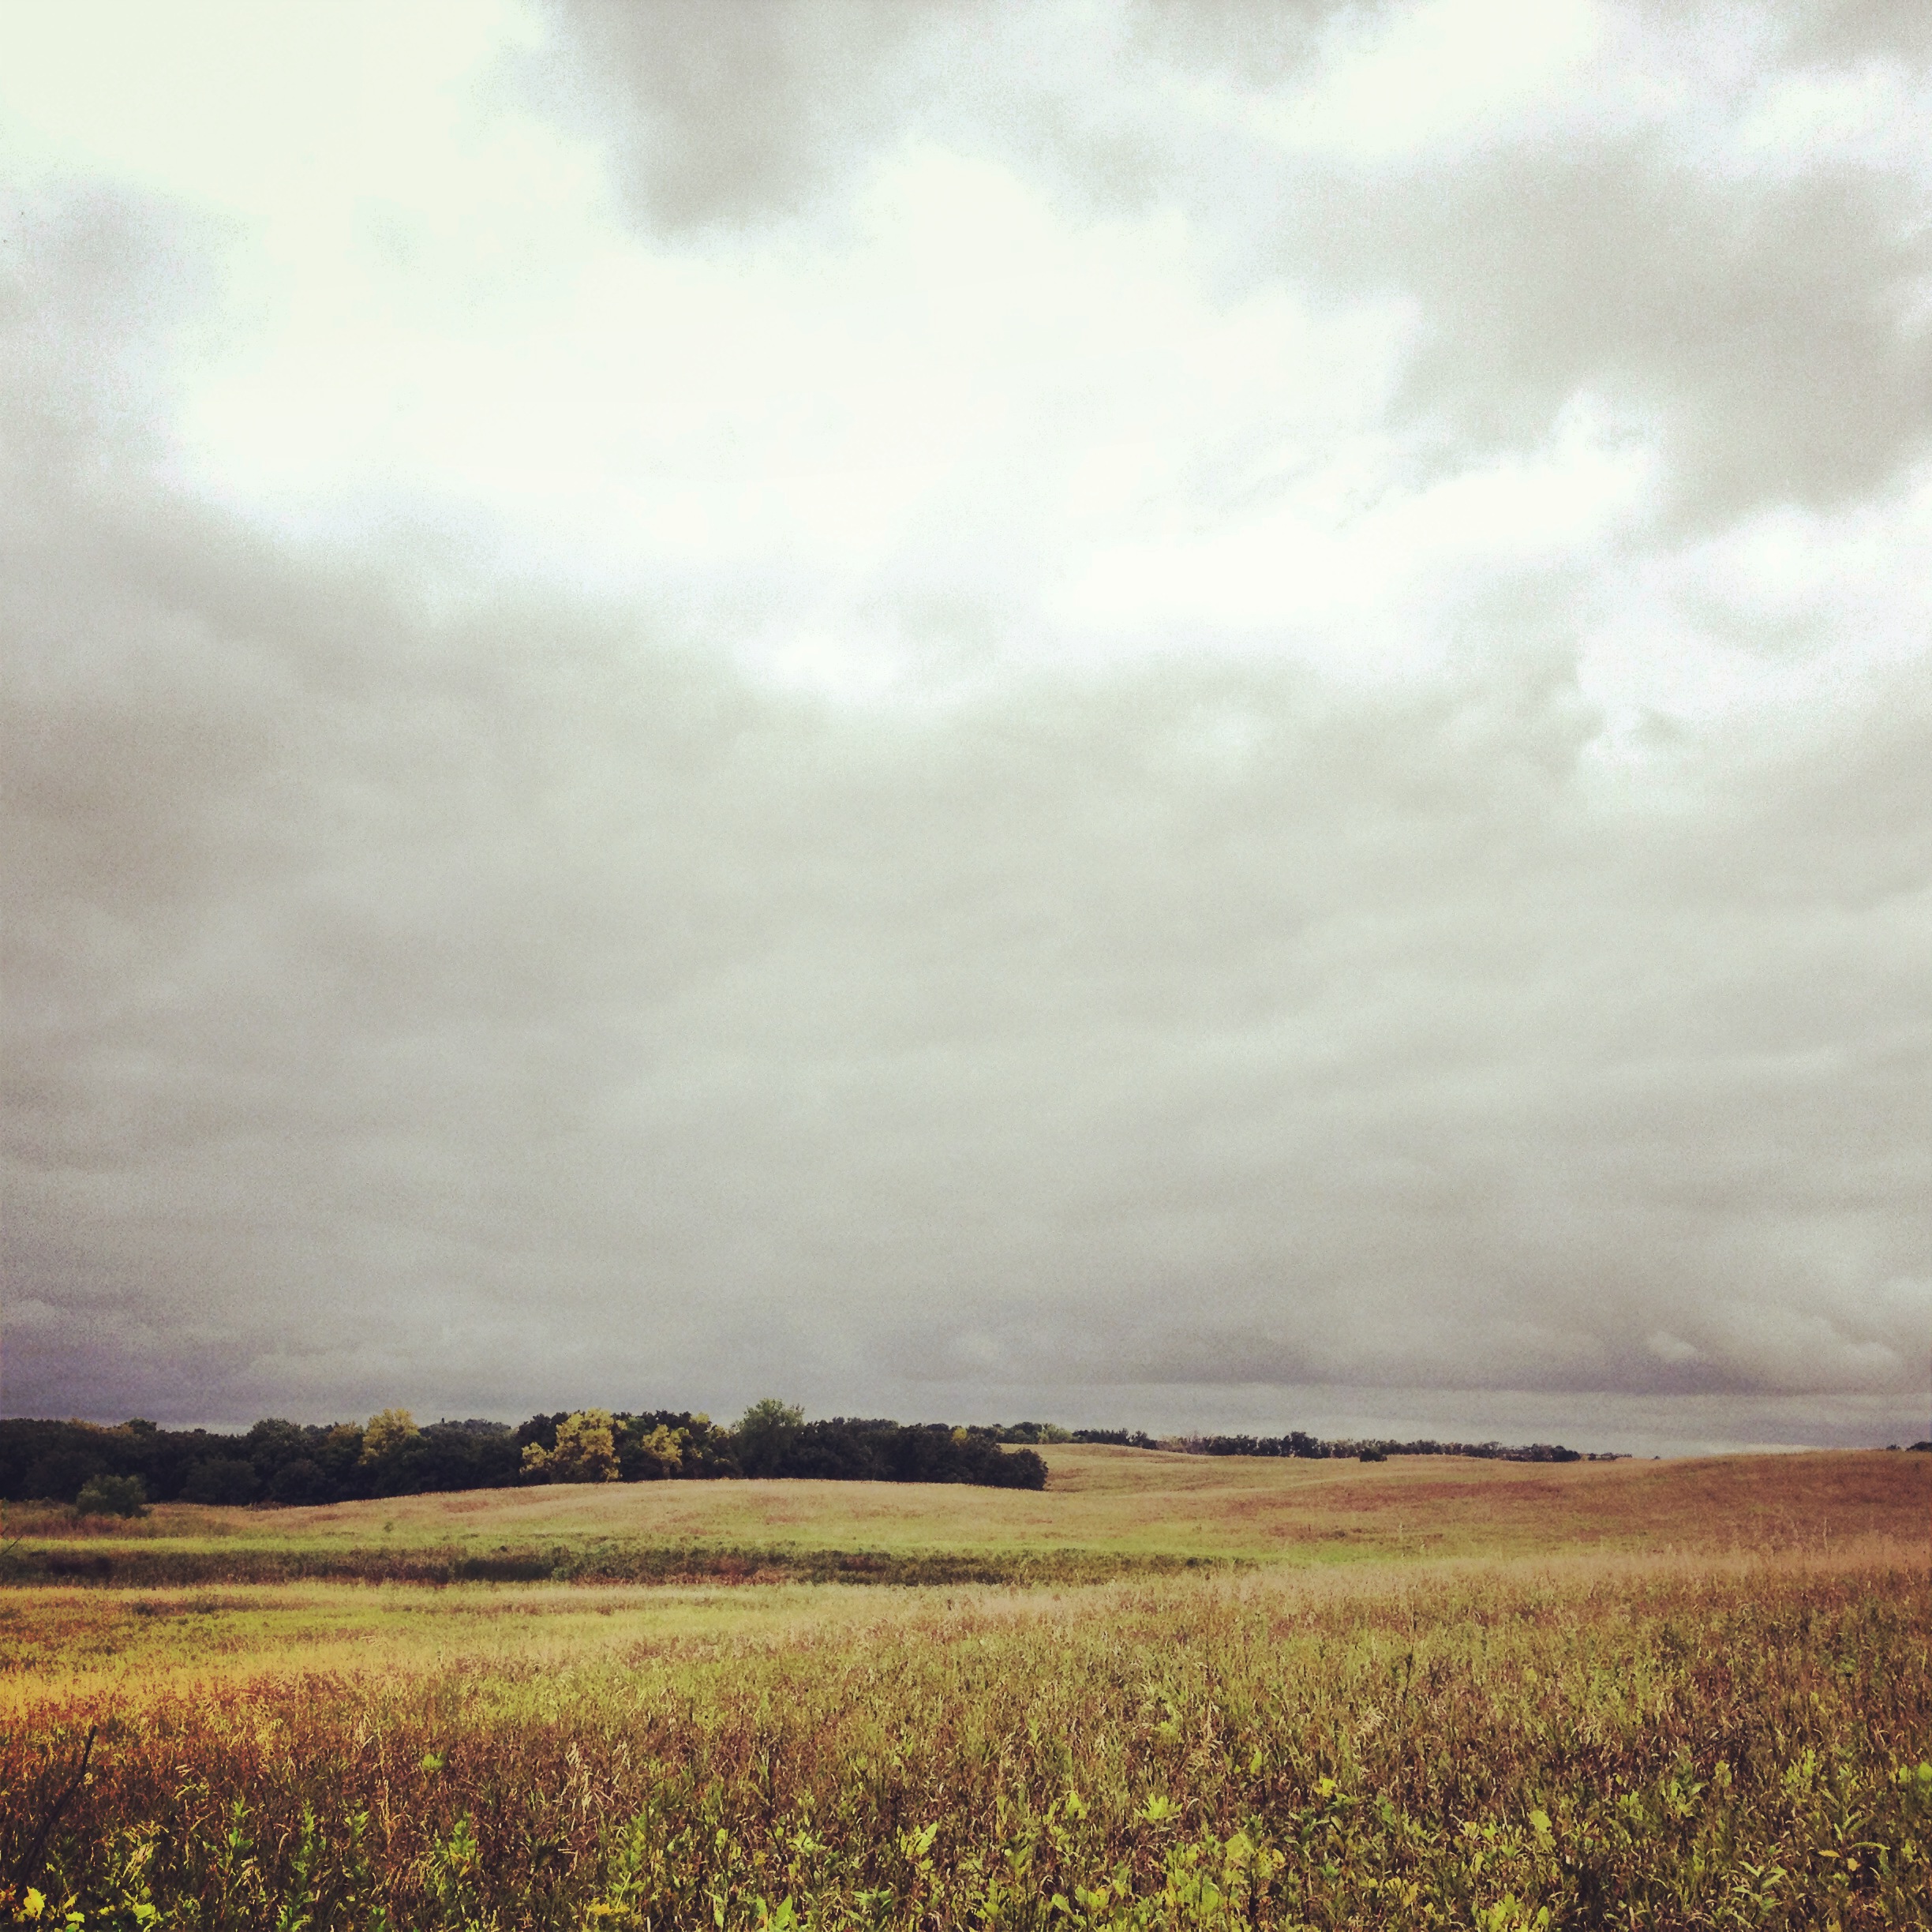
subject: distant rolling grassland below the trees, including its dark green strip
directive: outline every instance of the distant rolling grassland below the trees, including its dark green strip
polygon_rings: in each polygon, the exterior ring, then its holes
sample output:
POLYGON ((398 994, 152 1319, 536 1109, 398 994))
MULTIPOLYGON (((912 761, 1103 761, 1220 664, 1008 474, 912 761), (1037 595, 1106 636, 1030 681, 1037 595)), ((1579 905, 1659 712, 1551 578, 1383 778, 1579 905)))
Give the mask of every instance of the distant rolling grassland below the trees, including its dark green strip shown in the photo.
POLYGON ((162 1505, 128 1526, 14 1509, 14 1580, 1105 1580, 1202 1561, 1776 1553, 1913 1536, 1932 1468, 1903 1455, 1673 1463, 1302 1463, 1055 1447, 1045 1492, 657 1482, 404 1495, 327 1509, 162 1505))

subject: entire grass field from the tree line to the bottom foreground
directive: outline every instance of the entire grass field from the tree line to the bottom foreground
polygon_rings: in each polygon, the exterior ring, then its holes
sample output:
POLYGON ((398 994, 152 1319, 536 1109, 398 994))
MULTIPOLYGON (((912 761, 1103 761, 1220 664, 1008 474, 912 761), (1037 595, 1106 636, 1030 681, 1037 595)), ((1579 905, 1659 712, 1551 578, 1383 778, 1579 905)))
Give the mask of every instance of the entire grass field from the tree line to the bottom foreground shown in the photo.
POLYGON ((1049 1461, 12 1511, 15 1575, 203 1580, 0 1592, 0 1884, 278 1932, 1932 1924, 1928 1459, 1049 1461), (713 1580, 214 1580, 653 1549, 713 1580))

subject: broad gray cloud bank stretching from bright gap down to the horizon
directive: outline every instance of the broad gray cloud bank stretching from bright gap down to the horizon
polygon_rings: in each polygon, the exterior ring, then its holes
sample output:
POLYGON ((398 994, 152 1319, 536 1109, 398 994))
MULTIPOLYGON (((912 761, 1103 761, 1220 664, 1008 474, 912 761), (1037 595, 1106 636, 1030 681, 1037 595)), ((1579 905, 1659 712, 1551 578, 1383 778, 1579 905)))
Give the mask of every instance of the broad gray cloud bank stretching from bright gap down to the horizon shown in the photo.
POLYGON ((1913 684, 1636 810, 1559 665, 906 728, 54 510, 14 1406, 1917 1381, 1913 684))

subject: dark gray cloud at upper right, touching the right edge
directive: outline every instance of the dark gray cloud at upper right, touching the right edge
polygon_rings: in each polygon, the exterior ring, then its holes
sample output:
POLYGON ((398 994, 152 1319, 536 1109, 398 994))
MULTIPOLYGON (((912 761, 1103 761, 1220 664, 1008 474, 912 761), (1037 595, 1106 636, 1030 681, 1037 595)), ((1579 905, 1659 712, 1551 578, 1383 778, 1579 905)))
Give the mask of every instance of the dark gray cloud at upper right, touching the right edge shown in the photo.
POLYGON ((1698 520, 1837 504, 1932 431, 1932 230, 1884 174, 1714 180, 1646 151, 1513 151, 1331 184, 1298 261, 1420 303, 1397 408, 1470 446, 1534 448, 1592 396, 1662 442, 1698 520))

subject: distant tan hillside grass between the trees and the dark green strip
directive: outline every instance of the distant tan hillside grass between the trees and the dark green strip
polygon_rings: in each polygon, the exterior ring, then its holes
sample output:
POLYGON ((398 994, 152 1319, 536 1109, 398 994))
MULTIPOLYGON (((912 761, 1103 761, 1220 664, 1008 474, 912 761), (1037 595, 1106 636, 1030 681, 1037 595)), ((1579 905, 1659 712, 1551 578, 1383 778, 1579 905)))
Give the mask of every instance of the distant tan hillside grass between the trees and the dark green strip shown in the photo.
MULTIPOLYGON (((1553 1549, 1824 1548, 1924 1532, 1932 1459, 1882 1451, 1669 1463, 1310 1463, 1061 1445, 1045 1492, 958 1484, 663 1482, 406 1495, 323 1509, 162 1505, 64 1542, 234 1549, 694 1544, 1240 1557, 1507 1555, 1553 1549)), ((10 1534, 46 1538, 33 1524, 10 1534)))

